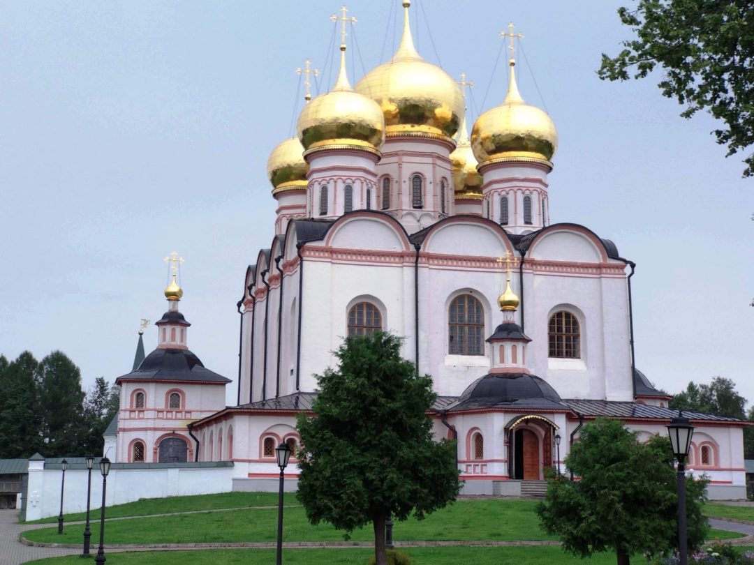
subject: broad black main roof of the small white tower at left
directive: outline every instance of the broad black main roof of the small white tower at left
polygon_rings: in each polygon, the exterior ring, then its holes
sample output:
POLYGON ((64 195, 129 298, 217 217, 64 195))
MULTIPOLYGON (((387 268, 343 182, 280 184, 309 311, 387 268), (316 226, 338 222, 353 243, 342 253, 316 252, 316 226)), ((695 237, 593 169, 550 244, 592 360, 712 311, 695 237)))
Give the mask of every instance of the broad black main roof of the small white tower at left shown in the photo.
POLYGON ((230 383, 213 371, 205 368, 199 358, 185 349, 156 349, 146 356, 136 371, 131 371, 118 380, 169 380, 185 382, 230 383))

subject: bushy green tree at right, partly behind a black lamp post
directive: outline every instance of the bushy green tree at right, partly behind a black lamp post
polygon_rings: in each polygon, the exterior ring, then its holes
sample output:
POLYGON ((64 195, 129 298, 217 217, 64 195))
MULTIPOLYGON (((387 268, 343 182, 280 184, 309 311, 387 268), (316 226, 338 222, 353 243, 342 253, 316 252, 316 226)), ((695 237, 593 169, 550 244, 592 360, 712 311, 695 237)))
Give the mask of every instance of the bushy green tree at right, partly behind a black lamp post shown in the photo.
MULTIPOLYGON (((612 550, 618 565, 627 565, 631 554, 677 547, 678 496, 670 457, 667 438, 654 436, 642 444, 619 420, 586 424, 566 457, 579 480, 550 477, 547 497, 537 508, 541 524, 560 536, 564 551, 589 557, 612 550)), ((706 481, 686 480, 690 548, 704 541, 705 486, 706 481)))

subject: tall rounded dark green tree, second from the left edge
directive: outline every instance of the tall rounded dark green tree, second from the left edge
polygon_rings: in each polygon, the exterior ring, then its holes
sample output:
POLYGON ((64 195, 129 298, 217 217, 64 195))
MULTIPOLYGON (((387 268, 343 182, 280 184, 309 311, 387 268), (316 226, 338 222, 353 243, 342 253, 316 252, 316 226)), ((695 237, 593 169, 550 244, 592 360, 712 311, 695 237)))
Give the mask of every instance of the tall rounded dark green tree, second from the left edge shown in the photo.
POLYGON ((62 351, 44 357, 37 369, 45 457, 79 455, 86 423, 81 371, 62 351))

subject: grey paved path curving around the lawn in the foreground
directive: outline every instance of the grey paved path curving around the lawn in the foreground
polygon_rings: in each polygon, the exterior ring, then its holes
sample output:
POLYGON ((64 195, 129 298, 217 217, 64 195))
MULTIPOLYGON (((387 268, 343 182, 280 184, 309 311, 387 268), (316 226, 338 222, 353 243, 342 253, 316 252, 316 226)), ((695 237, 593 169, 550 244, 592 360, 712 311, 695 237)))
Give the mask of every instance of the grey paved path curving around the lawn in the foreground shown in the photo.
MULTIPOLYGON (((217 509, 198 512, 228 512, 237 509, 217 509)), ((195 511, 196 512, 196 511, 195 511)), ((195 512, 175 512, 175 514, 193 514, 195 512)), ((146 518, 146 516, 129 516, 124 518, 110 518, 110 520, 131 520, 146 518)), ((55 524, 18 524, 18 512, 15 510, 0 511, 0 565, 20 565, 27 561, 44 559, 45 557, 60 557, 81 553, 81 545, 44 544, 38 542, 20 542, 20 533, 42 527, 54 527, 55 524)), ((67 524, 81 524, 82 522, 68 522, 67 524)), ((746 534, 743 538, 726 540, 733 545, 754 545, 754 523, 743 521, 729 521, 710 518, 710 527, 716 530, 729 530, 746 534)), ((521 546, 521 545, 559 545, 554 541, 406 541, 396 542, 400 547, 421 546, 453 546, 453 545, 483 545, 483 546, 521 546)), ((94 548, 97 546, 94 545, 94 548)), ((115 551, 177 551, 177 550, 206 550, 213 548, 274 548, 274 542, 222 542, 222 543, 164 543, 164 544, 133 544, 106 546, 107 553, 115 551)), ((287 548, 354 548, 372 547, 372 542, 285 542, 287 548)))

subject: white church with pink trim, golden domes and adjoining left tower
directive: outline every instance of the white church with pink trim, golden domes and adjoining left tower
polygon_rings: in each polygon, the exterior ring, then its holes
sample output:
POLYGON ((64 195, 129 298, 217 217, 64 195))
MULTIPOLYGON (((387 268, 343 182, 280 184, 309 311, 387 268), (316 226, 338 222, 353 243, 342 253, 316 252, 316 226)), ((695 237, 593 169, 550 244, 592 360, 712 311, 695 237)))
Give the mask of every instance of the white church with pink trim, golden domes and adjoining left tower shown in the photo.
MULTIPOLYGON (((186 348, 173 277, 158 348, 117 381, 118 461, 232 461, 234 489, 276 489, 274 447, 296 462, 315 375, 343 337, 377 330, 404 336, 403 356, 433 377, 434 433, 458 440, 465 493, 526 494, 566 470, 594 417, 667 433, 670 395, 634 365, 633 262, 550 219, 557 133, 516 85, 512 26, 507 96, 469 135, 464 93, 419 56, 409 6, 397 52, 355 87, 344 12, 336 83, 271 152, 277 217, 238 303, 238 404, 186 348)), ((710 497, 745 497, 743 422, 684 415, 710 497)))

